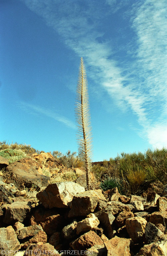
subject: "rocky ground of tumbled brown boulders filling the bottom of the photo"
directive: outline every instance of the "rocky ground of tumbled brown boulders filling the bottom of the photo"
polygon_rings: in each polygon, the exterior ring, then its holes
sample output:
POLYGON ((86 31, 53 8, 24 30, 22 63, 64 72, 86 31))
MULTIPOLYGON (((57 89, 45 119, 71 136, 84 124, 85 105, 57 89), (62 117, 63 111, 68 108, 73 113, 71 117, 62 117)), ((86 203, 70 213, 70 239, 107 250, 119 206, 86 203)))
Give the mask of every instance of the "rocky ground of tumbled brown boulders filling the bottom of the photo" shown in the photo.
POLYGON ((166 189, 146 198, 96 184, 85 191, 82 170, 75 182, 51 184, 65 168, 48 154, 12 164, 0 157, 0 256, 167 255, 166 189))

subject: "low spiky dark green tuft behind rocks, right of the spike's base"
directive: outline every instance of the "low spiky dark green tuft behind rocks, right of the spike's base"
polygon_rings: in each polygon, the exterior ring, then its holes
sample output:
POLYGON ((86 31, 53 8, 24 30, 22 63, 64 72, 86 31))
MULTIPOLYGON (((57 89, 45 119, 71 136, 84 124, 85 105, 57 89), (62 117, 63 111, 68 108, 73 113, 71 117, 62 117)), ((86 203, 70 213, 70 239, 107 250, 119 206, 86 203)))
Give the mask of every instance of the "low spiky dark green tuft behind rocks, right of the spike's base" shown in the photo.
POLYGON ((105 179, 103 182, 100 183, 100 188, 103 191, 106 191, 108 189, 112 189, 117 187, 120 194, 123 192, 123 182, 121 180, 118 180, 116 178, 109 178, 105 179))

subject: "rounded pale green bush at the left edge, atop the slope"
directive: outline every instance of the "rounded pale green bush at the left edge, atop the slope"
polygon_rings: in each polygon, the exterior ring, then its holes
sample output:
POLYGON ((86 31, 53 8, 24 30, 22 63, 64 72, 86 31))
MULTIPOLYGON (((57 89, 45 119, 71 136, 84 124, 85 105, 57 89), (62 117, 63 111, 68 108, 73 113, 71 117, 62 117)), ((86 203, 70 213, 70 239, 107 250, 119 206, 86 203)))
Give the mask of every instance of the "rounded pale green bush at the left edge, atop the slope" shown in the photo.
POLYGON ((11 149, 7 148, 4 150, 0 150, 0 156, 7 158, 9 163, 13 163, 27 156, 25 152, 21 149, 11 149))

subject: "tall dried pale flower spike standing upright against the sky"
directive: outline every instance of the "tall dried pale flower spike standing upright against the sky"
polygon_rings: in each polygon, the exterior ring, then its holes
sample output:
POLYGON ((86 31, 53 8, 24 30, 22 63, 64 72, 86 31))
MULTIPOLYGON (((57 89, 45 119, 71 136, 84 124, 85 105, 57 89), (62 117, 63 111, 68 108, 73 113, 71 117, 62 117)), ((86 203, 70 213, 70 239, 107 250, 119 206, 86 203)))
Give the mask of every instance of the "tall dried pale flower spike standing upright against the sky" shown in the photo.
POLYGON ((91 126, 90 111, 88 102, 87 79, 84 67, 84 61, 81 57, 79 78, 77 85, 76 100, 76 120, 78 123, 78 146, 81 157, 84 160, 84 168, 86 173, 86 190, 90 190, 89 171, 91 167, 91 126))

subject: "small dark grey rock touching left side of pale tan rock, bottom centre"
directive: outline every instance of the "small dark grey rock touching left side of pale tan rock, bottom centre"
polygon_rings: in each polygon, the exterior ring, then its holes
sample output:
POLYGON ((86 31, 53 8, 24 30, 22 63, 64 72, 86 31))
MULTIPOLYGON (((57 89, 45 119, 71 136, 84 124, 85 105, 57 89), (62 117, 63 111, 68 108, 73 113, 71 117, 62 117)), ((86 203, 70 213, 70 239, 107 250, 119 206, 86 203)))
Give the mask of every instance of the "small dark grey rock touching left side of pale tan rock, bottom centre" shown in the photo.
POLYGON ((67 239, 67 240, 74 239, 74 237, 76 236, 76 231, 77 231, 77 221, 73 220, 73 222, 71 222, 70 224, 68 224, 62 229, 61 235, 64 239, 67 239))

